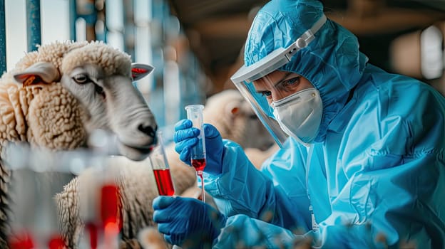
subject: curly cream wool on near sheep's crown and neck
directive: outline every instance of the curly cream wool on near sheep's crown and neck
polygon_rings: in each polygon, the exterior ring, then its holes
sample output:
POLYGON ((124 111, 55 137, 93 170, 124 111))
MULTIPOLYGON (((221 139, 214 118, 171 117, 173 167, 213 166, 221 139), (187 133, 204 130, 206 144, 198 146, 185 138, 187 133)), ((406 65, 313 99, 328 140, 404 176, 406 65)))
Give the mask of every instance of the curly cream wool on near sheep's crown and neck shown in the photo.
MULTIPOLYGON (((58 80, 23 87, 14 74, 37 62, 52 63, 63 75, 85 63, 99 65, 106 75, 131 76, 131 57, 101 41, 56 41, 27 53, 0 78, 0 149, 6 142, 30 142, 54 150, 74 149, 86 142, 85 114, 58 80)), ((7 233, 9 171, 0 167, 0 237, 7 233)), ((0 238, 0 248, 6 241, 0 238)))

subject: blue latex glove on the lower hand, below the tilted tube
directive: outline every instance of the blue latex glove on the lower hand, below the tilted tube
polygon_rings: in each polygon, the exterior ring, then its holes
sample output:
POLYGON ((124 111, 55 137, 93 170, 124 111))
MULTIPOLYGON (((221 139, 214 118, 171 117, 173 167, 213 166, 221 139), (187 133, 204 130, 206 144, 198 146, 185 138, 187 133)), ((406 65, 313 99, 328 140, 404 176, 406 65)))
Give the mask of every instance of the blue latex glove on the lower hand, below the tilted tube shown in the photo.
POLYGON ((153 200, 153 221, 172 245, 211 248, 227 218, 195 198, 158 196, 153 200))

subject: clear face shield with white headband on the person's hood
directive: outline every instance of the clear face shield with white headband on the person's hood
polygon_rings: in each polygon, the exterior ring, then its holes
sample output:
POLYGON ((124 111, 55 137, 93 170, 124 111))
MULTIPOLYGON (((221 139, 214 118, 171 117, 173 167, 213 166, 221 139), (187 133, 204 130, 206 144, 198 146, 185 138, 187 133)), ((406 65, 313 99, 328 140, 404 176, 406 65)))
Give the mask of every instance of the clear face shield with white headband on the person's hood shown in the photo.
MULTIPOLYGON (((284 87, 292 84, 292 80, 295 80, 295 74, 286 72, 275 73, 275 71, 290 62, 292 56, 297 51, 305 48, 314 39, 314 33, 317 33, 325 22, 326 16, 322 15, 312 28, 303 33, 290 46, 277 48, 265 56, 265 58, 250 66, 243 65, 230 78, 247 102, 250 102, 262 124, 265 125, 280 147, 287 139, 287 134, 282 131, 280 124, 275 120, 273 108, 270 106, 272 100, 270 95, 275 95, 273 96, 275 101, 290 95, 289 90, 284 87), (267 98, 269 98, 269 101, 267 98)), ((290 88, 292 89, 292 86, 290 88)))

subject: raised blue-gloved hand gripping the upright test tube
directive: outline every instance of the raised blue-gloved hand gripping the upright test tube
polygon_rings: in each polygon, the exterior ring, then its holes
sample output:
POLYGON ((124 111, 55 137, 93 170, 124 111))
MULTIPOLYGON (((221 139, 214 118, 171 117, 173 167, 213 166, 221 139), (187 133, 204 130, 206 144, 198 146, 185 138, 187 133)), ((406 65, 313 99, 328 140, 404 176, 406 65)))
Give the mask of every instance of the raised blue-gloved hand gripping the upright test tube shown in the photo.
MULTIPOLYGON (((204 124, 206 165, 204 171, 209 174, 221 174, 223 166, 224 144, 220 132, 212 124, 204 124)), ((190 153, 198 144, 200 130, 193 127, 191 120, 180 120, 175 124, 175 151, 179 159, 190 165, 190 153)))

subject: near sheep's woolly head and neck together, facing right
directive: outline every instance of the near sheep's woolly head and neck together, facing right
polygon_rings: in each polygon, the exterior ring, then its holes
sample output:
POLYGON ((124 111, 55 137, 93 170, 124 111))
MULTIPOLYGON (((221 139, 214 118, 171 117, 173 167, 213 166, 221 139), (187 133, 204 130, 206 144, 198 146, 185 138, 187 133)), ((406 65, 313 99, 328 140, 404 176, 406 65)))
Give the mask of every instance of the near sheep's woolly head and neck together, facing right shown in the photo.
MULTIPOLYGON (((53 150, 85 147, 91 132, 103 129, 116 134, 120 154, 144 159, 155 144, 157 124, 132 82, 151 70, 99 41, 39 46, 1 76, 0 150, 8 142, 53 150)), ((12 173, 0 163, 0 248, 7 248, 12 173)))

